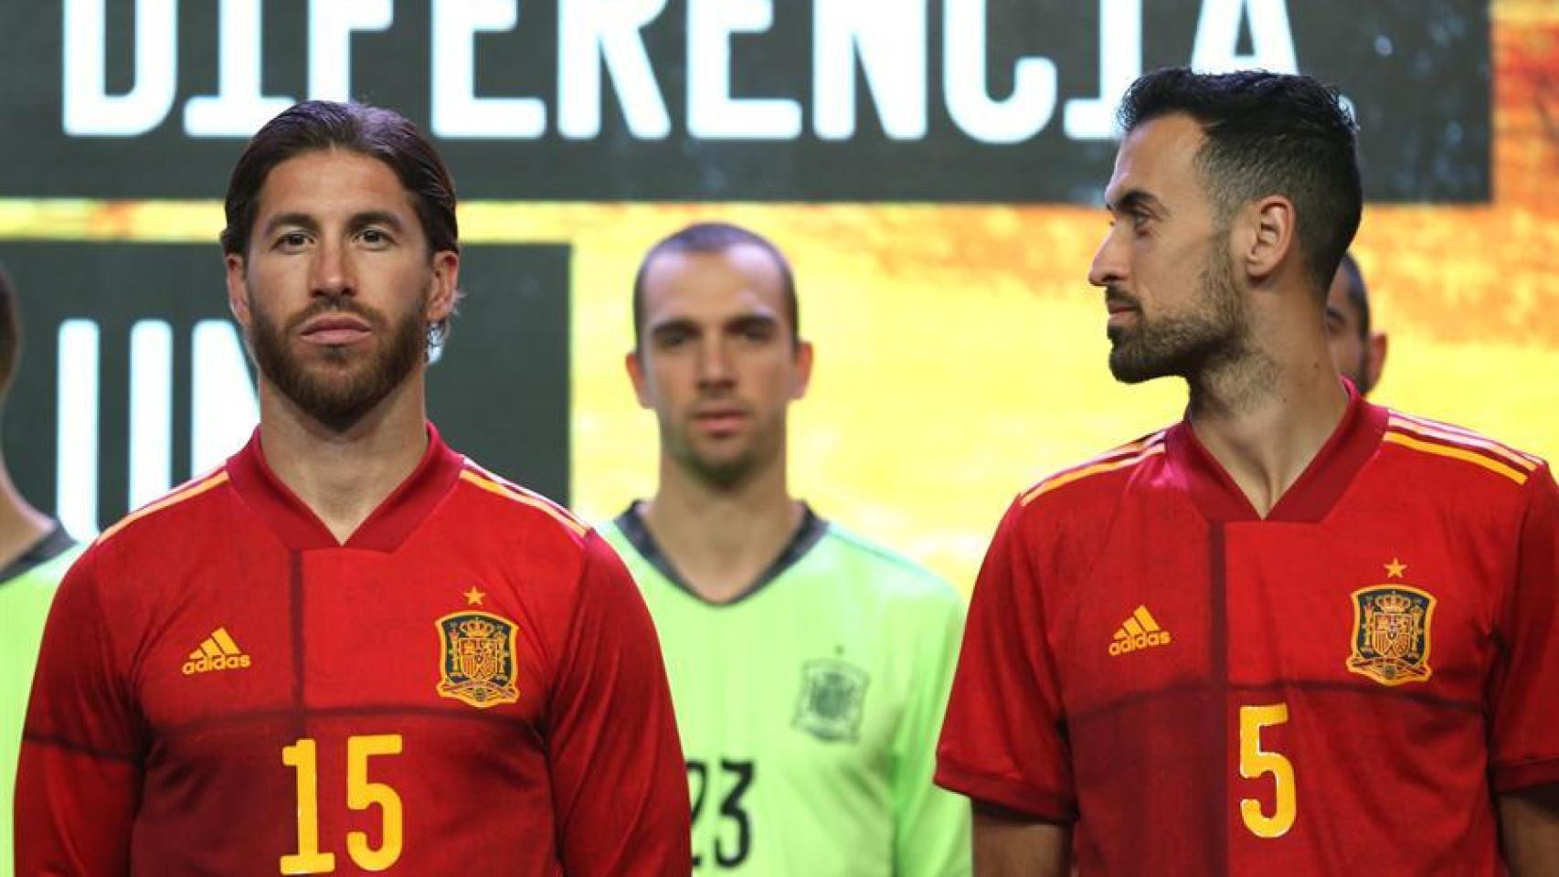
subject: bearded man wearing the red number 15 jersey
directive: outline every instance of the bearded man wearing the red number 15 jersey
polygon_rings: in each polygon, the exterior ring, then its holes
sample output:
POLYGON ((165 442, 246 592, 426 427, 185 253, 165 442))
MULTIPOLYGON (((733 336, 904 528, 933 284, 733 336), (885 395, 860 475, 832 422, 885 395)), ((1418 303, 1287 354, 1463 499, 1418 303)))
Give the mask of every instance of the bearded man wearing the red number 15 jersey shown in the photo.
POLYGON ((223 232, 260 425, 59 589, 23 874, 686 874, 653 626, 611 548, 427 422, 454 185, 382 109, 298 104, 223 232))

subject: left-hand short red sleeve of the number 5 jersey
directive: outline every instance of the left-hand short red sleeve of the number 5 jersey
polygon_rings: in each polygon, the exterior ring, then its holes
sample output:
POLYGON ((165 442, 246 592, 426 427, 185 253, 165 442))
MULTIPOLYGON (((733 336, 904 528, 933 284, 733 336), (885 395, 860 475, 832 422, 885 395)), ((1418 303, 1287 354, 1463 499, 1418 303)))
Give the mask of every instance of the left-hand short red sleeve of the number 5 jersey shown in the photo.
POLYGON ((1040 570, 1013 503, 974 584, 937 748, 937 784, 1046 821, 1076 818, 1040 570))

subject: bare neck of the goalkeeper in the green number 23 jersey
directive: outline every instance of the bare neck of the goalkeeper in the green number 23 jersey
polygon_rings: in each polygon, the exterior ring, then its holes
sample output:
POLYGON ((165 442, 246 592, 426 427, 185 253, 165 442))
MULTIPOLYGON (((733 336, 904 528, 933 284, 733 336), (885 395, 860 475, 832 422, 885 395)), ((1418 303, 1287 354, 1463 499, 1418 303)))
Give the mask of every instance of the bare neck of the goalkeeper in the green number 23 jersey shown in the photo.
POLYGON ((672 567, 711 603, 751 590, 801 523, 786 489, 784 453, 737 484, 709 484, 661 455, 655 498, 639 506, 672 567))

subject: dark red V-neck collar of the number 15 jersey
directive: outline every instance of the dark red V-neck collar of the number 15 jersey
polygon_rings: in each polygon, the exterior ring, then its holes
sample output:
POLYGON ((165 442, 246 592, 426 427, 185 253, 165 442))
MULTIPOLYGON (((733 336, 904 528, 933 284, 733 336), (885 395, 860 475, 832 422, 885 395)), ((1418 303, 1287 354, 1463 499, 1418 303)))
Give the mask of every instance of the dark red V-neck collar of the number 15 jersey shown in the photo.
POLYGON ((416 469, 379 503, 345 544, 337 542, 324 522, 271 472, 260 449, 259 428, 249 436, 249 444, 228 460, 228 477, 239 497, 295 551, 315 548, 393 551, 454 488, 463 466, 465 460, 438 438, 433 424, 427 424, 427 452, 422 453, 416 469))

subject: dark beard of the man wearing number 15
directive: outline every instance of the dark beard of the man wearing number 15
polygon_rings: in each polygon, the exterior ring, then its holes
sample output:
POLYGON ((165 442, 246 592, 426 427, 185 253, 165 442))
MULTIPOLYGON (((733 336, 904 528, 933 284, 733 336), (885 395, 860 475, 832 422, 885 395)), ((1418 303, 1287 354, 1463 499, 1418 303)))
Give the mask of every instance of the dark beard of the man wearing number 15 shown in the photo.
POLYGON ((384 402, 408 374, 427 358, 427 326, 421 307, 408 310, 385 335, 384 315, 357 305, 351 299, 326 298, 290 319, 285 329, 256 305, 249 296, 249 350, 254 365, 282 396, 326 428, 341 433, 384 402), (387 338, 384 350, 368 363, 354 363, 360 352, 338 347, 321 350, 323 363, 306 365, 295 357, 287 340, 321 313, 351 313, 373 326, 374 335, 387 338))

